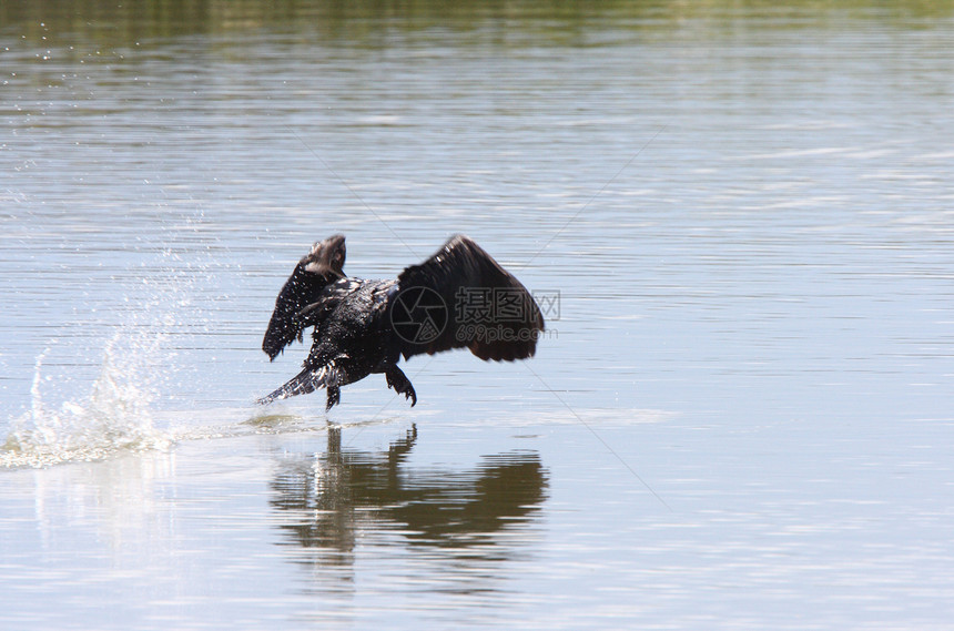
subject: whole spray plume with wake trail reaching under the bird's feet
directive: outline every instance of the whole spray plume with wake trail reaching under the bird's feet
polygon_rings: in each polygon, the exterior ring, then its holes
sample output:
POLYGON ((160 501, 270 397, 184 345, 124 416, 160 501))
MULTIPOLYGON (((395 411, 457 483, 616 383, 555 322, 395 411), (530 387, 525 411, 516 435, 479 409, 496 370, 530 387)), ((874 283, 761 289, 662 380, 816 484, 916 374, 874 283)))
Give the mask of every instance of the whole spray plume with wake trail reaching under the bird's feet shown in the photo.
MULTIPOLYGON (((215 265, 211 261, 189 265, 162 253, 155 264, 136 268, 148 269, 150 275, 118 301, 118 308, 136 305, 125 320, 105 329, 101 322, 90 323, 91 330, 103 333, 103 342, 83 353, 92 363, 85 363, 82 355, 64 362, 60 355, 71 342, 68 337, 50 339, 35 358, 24 411, 9 420, 7 436, 0 435, 0 470, 165 451, 183 441, 326 431, 329 425, 324 415, 295 414, 281 407, 276 414, 253 406, 251 395, 248 405, 242 407, 200 409, 190 405, 205 379, 214 387, 220 377, 199 375, 196 381, 194 360, 180 355, 221 327, 211 307, 201 301, 210 292, 203 294, 196 286, 215 265), (81 369, 72 362, 79 362, 81 369), (158 409, 168 407, 163 404, 170 400, 185 409, 158 409)), ((335 426, 390 420, 378 413, 335 426)))

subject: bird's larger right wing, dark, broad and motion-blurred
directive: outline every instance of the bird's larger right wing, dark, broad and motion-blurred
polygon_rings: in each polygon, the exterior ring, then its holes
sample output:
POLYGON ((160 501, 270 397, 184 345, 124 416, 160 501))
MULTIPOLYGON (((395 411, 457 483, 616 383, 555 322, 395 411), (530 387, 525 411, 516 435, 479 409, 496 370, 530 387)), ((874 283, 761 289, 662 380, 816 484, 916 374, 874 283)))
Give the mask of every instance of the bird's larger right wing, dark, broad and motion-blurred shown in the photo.
POLYGON ((522 284, 464 235, 397 277, 392 325, 405 358, 469 348, 480 359, 531 357, 544 330, 522 284))

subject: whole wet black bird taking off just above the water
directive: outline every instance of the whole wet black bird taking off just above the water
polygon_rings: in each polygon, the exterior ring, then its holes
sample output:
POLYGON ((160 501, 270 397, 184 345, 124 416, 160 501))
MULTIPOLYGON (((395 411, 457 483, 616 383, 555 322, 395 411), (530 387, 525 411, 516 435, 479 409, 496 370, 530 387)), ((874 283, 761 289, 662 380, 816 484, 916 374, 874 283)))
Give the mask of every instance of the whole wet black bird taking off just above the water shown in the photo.
POLYGON ((387 385, 417 403, 414 386, 397 367, 403 355, 433 355, 469 348, 480 359, 531 357, 544 316, 530 293, 479 245, 451 237, 397 281, 345 276, 345 237, 316 243, 298 262, 275 301, 262 342, 274 359, 314 326, 304 370, 262 397, 267 404, 326 388, 327 408, 341 401, 341 387, 384 373, 387 385))

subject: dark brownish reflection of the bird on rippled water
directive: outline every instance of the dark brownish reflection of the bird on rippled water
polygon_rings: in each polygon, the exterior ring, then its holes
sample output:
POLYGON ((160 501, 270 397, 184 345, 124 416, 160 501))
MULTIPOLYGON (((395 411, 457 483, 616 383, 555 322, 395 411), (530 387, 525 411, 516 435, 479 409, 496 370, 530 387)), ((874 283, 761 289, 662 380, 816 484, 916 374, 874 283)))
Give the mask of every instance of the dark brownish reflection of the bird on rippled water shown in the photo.
POLYGON ((309 552, 307 563, 351 566, 357 533, 369 531, 449 557, 503 559, 515 542, 500 546, 498 533, 528 523, 546 498, 547 470, 534 451, 463 470, 415 469, 405 460, 416 426, 376 454, 342 449, 341 429, 328 431, 326 452, 283 461, 272 482, 278 526, 309 552))

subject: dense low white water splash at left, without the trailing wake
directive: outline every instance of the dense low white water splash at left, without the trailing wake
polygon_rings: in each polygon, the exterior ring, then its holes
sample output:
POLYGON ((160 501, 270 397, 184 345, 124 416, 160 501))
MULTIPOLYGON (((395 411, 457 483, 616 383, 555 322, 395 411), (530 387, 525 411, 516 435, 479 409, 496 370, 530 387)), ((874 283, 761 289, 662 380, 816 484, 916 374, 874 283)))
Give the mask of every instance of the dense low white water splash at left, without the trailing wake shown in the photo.
POLYGON ((151 358, 161 340, 133 339, 116 333, 105 346, 103 363, 90 394, 59 406, 45 403, 43 362, 37 358, 30 389, 30 409, 13 421, 0 446, 0 467, 47 467, 77 460, 100 460, 120 451, 166 449, 168 432, 154 427, 151 404, 156 397, 150 373, 151 358))

